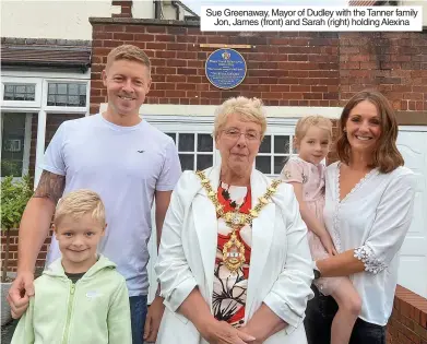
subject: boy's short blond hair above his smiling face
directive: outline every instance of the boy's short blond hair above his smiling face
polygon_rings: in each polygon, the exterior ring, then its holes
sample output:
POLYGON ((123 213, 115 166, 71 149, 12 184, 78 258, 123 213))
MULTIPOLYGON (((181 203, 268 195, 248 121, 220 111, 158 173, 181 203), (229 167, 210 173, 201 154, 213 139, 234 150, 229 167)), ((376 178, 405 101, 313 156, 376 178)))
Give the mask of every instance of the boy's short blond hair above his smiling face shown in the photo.
POLYGON ((58 226, 66 216, 79 220, 86 214, 105 226, 105 206, 99 194, 86 189, 72 191, 58 202, 54 224, 58 226))

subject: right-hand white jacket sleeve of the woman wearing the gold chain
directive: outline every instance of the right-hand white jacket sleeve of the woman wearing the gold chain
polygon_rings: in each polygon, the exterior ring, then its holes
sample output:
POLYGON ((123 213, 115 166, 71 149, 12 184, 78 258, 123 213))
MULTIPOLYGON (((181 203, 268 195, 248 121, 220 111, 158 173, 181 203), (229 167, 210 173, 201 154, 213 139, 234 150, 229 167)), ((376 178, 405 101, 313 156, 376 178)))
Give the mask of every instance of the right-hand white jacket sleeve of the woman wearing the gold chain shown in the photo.
POLYGON ((312 260, 307 240, 307 226, 299 214, 298 202, 288 185, 281 185, 280 206, 287 232, 286 262, 283 272, 273 284, 264 304, 289 325, 286 332, 293 332, 305 318, 307 301, 312 298, 310 288, 313 280, 312 260))

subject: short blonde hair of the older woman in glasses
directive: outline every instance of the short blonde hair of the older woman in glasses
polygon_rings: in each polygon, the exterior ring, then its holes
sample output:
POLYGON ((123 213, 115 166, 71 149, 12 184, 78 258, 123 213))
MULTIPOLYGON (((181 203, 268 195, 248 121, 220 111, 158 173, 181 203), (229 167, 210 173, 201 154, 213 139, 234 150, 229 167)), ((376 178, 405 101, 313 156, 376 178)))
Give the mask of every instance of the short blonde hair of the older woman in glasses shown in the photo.
POLYGON ((215 111, 213 137, 216 139, 227 122, 228 116, 238 114, 245 121, 261 126, 261 139, 266 129, 266 118, 262 108, 262 100, 258 98, 235 97, 225 100, 215 111))

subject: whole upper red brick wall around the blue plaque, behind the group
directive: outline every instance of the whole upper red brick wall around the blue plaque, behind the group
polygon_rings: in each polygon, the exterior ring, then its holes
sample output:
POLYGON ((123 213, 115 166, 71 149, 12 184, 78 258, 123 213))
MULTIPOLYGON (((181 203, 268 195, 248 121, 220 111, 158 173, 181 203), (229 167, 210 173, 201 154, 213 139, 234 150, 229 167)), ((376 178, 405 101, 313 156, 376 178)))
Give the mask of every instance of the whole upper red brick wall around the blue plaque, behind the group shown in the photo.
POLYGON ((217 105, 244 95, 272 106, 328 107, 342 105, 361 88, 378 87, 396 110, 427 114, 427 32, 202 33, 174 21, 91 22, 92 114, 106 102, 100 72, 107 54, 121 44, 141 47, 152 60, 149 104, 217 105), (213 86, 204 62, 214 48, 200 44, 251 45, 238 49, 248 67, 244 82, 229 91, 213 86))

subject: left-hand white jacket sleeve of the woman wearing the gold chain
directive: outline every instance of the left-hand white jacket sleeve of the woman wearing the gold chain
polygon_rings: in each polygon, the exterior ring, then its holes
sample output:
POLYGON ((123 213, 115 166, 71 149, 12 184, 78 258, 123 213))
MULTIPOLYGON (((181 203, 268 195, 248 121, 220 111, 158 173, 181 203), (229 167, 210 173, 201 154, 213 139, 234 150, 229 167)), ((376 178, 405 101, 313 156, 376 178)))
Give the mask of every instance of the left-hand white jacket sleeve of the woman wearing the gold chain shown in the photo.
MULTIPOLYGON (((175 312, 191 290, 197 286, 190 271, 181 242, 181 232, 186 213, 191 200, 188 200, 189 188, 194 189, 195 175, 182 174, 173 191, 170 204, 163 224, 161 247, 158 249, 155 272, 161 282, 161 295, 165 306, 175 312), (187 203, 183 201, 187 199, 187 203)), ((182 319, 183 320, 183 319, 182 319)))

